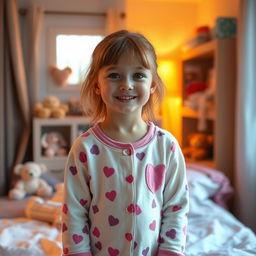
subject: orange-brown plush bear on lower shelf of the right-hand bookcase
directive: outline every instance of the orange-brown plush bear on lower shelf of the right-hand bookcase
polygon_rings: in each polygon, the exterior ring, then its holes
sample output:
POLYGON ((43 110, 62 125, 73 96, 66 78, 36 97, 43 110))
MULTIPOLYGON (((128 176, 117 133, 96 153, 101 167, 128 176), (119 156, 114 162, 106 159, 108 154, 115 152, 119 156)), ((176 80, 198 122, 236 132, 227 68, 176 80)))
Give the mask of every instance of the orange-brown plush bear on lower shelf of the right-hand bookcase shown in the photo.
POLYGON ((188 135, 188 146, 182 149, 183 155, 189 160, 205 160, 212 156, 213 135, 207 133, 191 133, 188 135))

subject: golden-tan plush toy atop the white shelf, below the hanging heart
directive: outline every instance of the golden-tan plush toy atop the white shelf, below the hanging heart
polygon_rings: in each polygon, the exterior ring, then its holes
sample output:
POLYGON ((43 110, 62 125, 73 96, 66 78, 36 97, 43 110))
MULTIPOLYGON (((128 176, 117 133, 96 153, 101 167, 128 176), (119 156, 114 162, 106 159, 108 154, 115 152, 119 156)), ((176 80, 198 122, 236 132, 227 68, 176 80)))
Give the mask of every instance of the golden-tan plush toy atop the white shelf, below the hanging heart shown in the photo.
POLYGON ((66 116, 68 109, 68 105, 61 104, 57 97, 48 96, 42 102, 35 104, 34 113, 39 118, 63 118, 66 116))

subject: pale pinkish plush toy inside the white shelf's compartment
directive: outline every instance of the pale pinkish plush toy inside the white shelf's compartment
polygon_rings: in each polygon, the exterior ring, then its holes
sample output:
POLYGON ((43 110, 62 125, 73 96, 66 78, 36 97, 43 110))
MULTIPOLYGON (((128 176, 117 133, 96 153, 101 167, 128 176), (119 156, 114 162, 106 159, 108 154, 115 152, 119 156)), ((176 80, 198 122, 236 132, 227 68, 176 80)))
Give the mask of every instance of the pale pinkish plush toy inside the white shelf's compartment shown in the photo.
POLYGON ((41 146, 47 157, 67 155, 67 142, 59 132, 44 133, 41 138, 41 146))

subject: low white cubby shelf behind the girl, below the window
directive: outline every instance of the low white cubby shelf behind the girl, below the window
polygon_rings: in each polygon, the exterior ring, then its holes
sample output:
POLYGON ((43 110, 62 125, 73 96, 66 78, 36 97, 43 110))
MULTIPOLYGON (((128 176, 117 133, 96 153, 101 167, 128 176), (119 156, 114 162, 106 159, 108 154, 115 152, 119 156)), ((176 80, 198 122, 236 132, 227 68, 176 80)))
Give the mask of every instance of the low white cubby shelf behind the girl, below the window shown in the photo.
POLYGON ((66 150, 69 151, 74 140, 90 127, 90 119, 85 117, 34 118, 33 120, 33 158, 37 163, 43 163, 48 170, 58 178, 63 179, 63 171, 67 156, 46 157, 41 145, 45 133, 58 132, 67 142, 66 150))

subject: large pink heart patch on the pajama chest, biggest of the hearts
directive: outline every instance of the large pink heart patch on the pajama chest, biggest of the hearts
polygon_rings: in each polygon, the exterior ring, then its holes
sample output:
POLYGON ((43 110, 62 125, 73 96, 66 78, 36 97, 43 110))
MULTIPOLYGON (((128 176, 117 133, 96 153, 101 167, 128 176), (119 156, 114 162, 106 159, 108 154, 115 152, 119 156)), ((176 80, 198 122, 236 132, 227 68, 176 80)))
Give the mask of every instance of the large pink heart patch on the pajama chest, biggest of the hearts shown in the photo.
POLYGON ((153 166, 148 164, 146 167, 146 183, 152 193, 156 193, 163 185, 166 167, 164 164, 153 166))

